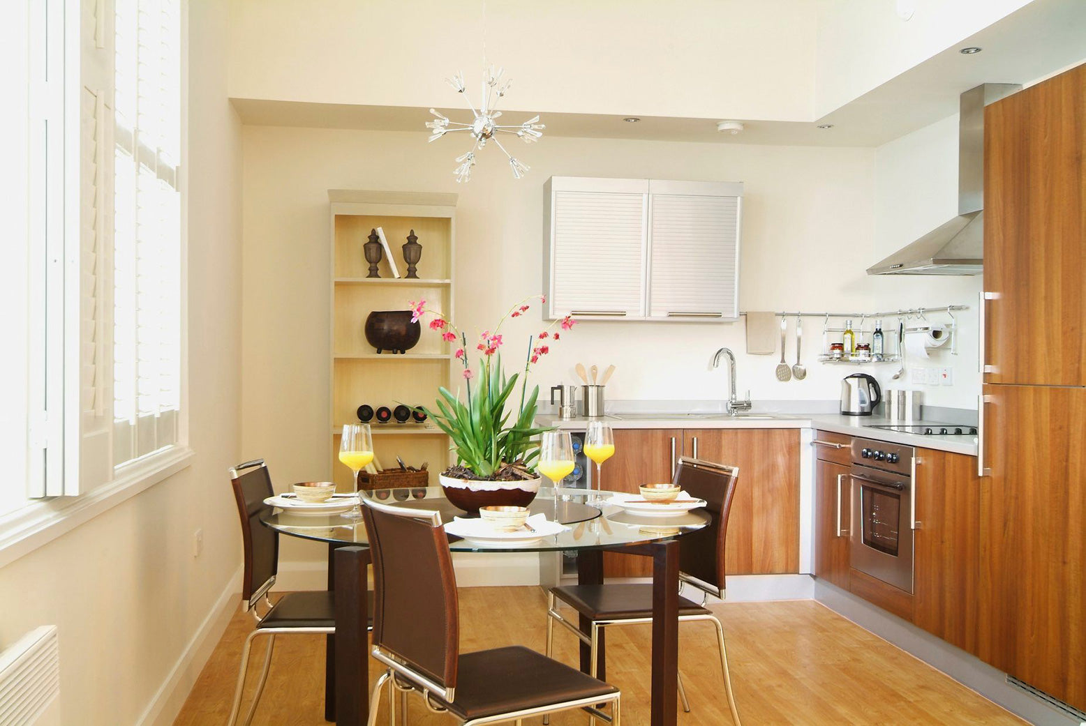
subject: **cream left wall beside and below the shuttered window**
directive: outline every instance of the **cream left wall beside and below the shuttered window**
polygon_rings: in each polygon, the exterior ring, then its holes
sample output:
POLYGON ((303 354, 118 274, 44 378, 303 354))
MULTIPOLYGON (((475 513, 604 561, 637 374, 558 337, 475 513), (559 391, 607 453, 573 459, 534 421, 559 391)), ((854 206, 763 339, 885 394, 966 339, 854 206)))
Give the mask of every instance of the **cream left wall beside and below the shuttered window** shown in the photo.
MULTIPOLYGON (((226 469, 240 449, 240 124, 226 97, 225 9, 189 13, 189 410, 192 466, 0 569, 0 649, 60 627, 62 722, 140 722, 161 693, 173 721, 203 665, 190 641, 240 563, 226 469), (204 552, 192 556, 195 530, 204 552)), ((212 634, 211 645, 218 638, 212 634)), ((149 719, 148 723, 155 723, 149 719)))

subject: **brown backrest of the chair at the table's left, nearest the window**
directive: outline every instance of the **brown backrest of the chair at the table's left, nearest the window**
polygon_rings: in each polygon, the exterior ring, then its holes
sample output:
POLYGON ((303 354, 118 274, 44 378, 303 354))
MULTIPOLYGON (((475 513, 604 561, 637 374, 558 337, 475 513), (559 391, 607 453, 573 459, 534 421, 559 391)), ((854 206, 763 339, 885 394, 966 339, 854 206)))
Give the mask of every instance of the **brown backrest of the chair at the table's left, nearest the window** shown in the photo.
POLYGON ((261 512, 270 511, 264 504, 275 492, 264 459, 239 463, 230 469, 233 498, 241 518, 241 542, 245 557, 245 572, 241 579, 241 599, 247 607, 264 595, 275 584, 279 571, 279 534, 261 524, 261 512))

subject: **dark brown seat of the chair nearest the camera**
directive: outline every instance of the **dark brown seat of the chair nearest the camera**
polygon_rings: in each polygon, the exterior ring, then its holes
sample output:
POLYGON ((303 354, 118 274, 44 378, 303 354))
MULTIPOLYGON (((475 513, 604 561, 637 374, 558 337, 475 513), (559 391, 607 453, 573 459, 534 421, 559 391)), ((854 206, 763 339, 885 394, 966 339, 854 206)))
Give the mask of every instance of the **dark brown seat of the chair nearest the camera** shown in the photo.
POLYGON ((523 646, 509 646, 462 653, 456 700, 445 705, 469 721, 616 692, 614 686, 565 663, 523 646))

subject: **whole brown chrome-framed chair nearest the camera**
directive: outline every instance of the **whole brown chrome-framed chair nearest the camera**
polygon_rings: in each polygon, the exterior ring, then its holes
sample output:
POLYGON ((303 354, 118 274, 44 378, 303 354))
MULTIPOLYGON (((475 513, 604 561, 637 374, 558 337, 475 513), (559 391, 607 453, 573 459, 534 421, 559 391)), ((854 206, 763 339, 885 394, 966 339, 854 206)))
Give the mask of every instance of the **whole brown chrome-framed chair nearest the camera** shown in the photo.
POLYGON ((619 726, 614 686, 521 646, 460 653, 456 575, 441 514, 363 502, 376 590, 372 655, 388 666, 374 686, 370 726, 387 683, 420 693, 428 709, 465 725, 520 724, 567 709, 606 718, 596 706, 610 702, 619 726))

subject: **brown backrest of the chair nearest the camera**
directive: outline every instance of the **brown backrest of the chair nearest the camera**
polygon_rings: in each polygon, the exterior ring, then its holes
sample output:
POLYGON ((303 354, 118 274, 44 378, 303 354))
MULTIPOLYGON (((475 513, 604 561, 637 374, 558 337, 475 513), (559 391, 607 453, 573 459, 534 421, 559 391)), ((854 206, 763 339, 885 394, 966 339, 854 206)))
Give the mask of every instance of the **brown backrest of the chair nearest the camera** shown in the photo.
POLYGON ((459 603, 441 515, 368 498, 363 502, 374 563, 374 648, 414 672, 405 675, 420 674, 452 692, 459 659, 459 603))

